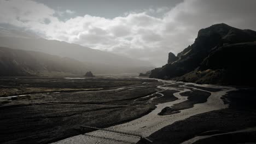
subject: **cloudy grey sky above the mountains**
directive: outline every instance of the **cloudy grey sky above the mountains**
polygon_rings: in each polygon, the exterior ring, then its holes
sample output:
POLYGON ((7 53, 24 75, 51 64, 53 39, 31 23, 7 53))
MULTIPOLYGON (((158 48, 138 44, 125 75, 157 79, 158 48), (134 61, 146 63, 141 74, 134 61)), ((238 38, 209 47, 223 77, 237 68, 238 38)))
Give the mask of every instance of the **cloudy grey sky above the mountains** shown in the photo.
POLYGON ((0 26, 149 61, 194 43, 201 28, 256 30, 255 0, 0 0, 0 26))

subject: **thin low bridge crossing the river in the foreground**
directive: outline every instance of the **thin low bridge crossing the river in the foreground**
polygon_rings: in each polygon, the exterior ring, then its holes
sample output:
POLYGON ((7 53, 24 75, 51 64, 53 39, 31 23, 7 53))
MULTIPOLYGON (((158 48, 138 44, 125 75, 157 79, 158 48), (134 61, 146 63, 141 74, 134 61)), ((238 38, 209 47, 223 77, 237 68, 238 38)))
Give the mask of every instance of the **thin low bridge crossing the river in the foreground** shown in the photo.
POLYGON ((149 140, 147 137, 144 137, 142 136, 141 134, 139 133, 136 133, 136 131, 127 131, 127 130, 113 130, 113 129, 107 129, 107 128, 104 128, 104 129, 101 129, 101 128, 96 128, 96 127, 89 127, 89 126, 85 126, 85 125, 80 125, 80 128, 82 128, 83 130, 85 128, 89 128, 89 129, 96 129, 96 130, 103 130, 103 131, 110 131, 110 132, 113 132, 113 133, 119 133, 119 134, 125 134, 125 135, 132 135, 132 136, 137 136, 137 137, 140 137, 141 139, 144 139, 150 143, 153 143, 152 140, 149 140))

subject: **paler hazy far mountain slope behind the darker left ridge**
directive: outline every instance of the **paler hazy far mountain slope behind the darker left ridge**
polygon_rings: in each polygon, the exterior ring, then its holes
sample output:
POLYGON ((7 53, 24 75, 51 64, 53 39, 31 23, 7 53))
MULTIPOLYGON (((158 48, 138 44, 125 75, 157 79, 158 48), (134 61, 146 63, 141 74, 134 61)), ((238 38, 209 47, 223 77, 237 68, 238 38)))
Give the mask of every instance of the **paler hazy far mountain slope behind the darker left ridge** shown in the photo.
POLYGON ((0 33, 0 46, 10 47, 11 49, 44 52, 50 55, 76 59, 94 68, 93 71, 96 74, 140 73, 154 68, 148 62, 90 49, 89 47, 78 44, 69 44, 64 41, 25 38, 25 36, 7 37, 6 34, 1 35, 0 33))

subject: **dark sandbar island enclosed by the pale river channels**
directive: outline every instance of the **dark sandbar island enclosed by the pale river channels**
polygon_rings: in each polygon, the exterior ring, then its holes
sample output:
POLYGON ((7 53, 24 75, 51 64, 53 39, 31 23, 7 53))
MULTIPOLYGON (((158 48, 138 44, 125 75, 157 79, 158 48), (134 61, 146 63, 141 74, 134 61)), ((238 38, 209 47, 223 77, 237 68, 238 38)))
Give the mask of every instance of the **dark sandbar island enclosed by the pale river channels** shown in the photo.
POLYGON ((172 115, 174 113, 179 113, 180 110, 189 109, 195 104, 205 103, 211 93, 192 89, 191 91, 181 93, 181 95, 188 97, 188 100, 174 104, 172 107, 165 107, 158 113, 158 115, 172 115))

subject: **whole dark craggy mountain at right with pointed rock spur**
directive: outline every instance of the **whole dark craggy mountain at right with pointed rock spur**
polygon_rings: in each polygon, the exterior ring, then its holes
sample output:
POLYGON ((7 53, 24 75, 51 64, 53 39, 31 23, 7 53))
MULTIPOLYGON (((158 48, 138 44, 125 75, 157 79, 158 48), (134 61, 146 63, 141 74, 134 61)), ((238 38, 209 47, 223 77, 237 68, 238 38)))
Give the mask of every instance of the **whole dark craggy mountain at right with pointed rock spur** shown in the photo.
POLYGON ((224 23, 201 29, 193 45, 150 77, 185 82, 255 86, 256 32, 224 23))

